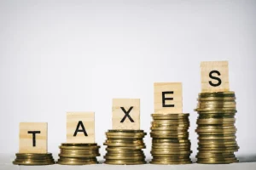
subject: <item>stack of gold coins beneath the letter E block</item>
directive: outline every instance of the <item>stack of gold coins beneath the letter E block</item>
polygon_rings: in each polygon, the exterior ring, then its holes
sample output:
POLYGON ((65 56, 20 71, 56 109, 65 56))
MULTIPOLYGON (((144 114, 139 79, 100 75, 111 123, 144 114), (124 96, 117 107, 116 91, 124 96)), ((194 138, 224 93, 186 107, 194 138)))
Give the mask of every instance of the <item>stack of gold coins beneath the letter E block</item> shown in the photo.
POLYGON ((189 114, 152 114, 152 164, 189 164, 189 114))

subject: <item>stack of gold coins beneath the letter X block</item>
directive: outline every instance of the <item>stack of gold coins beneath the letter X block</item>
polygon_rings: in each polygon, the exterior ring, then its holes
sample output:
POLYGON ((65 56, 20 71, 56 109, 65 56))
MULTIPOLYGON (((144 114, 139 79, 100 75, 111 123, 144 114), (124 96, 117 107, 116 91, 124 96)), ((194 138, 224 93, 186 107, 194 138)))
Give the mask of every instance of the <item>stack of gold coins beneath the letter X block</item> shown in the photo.
POLYGON ((108 130, 104 145, 107 154, 104 156, 106 164, 138 165, 145 164, 142 149, 146 148, 143 138, 147 133, 143 130, 108 130))

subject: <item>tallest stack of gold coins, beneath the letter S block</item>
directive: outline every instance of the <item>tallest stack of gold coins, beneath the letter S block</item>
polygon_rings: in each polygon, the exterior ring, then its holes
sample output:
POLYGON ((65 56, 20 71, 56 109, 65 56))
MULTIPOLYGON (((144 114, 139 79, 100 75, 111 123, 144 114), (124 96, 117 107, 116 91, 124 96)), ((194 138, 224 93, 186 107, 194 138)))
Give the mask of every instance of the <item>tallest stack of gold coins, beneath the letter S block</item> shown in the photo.
POLYGON ((199 114, 195 130, 199 135, 197 163, 237 162, 235 93, 201 93, 195 111, 199 114))

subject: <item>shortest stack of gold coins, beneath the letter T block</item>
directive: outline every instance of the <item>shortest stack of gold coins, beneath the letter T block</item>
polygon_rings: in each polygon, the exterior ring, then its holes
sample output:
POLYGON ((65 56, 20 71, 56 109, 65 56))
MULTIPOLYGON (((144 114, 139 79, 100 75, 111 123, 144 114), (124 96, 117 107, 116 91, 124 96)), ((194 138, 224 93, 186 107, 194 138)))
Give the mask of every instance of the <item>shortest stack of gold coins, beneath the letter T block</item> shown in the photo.
POLYGON ((51 153, 17 153, 13 163, 15 165, 52 165, 55 164, 55 160, 51 153))

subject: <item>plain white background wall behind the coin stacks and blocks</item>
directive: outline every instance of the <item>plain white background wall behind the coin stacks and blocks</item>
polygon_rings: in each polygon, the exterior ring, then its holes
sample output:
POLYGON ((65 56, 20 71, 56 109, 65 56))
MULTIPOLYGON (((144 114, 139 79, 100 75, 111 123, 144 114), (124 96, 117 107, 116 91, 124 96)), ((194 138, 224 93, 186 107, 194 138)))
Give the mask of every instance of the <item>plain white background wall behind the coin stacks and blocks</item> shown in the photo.
POLYGON ((19 122, 49 122, 58 153, 67 111, 95 111, 102 145, 113 98, 141 99, 149 133, 154 82, 183 82, 195 156, 200 62, 229 60, 237 155, 255 156, 255 16, 255 0, 0 1, 0 152, 15 156, 19 122))

